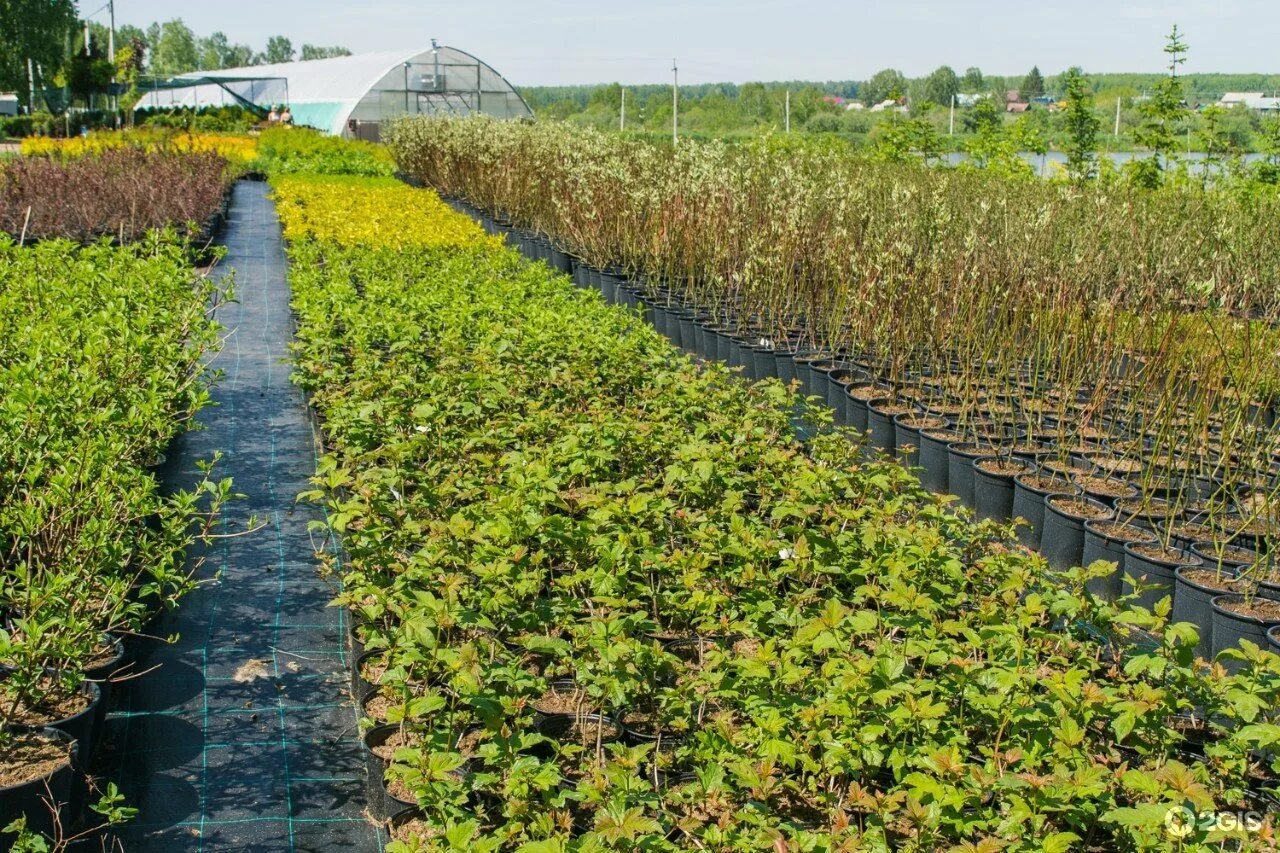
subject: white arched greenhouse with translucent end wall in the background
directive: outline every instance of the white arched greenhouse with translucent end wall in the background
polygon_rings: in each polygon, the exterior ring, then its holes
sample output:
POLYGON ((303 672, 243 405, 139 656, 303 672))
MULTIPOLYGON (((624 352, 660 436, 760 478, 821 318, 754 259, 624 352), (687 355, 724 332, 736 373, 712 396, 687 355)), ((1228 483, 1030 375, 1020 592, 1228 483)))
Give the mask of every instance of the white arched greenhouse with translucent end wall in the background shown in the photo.
POLYGON ((402 115, 532 115, 493 67, 445 46, 183 74, 157 83, 137 109, 237 104, 288 104, 294 124, 369 140, 402 115))

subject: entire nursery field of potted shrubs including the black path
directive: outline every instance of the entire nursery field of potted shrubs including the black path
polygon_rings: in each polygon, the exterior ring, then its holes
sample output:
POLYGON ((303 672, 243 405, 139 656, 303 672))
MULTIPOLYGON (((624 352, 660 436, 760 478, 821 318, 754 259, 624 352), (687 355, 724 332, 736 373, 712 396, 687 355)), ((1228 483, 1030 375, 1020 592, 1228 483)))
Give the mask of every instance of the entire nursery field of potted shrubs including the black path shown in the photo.
POLYGON ((1276 213, 485 119, 32 141, 0 849, 1275 849, 1276 213))

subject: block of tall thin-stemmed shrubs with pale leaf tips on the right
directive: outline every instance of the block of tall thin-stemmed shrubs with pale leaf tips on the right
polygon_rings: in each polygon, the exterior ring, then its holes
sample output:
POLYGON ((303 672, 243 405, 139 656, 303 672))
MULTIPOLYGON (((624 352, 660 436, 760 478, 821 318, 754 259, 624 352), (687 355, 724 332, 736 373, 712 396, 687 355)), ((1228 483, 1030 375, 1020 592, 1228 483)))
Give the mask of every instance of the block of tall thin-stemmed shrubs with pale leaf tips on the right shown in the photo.
POLYGON ((1280 273, 1270 196, 485 119, 411 119, 389 140, 411 177, 554 266, 639 284, 672 330, 721 332, 765 373, 778 356, 835 371, 879 401, 882 433, 928 415, 1006 457, 1023 439, 1060 465, 1106 450, 1144 505, 1276 529, 1280 300, 1257 284, 1280 273))

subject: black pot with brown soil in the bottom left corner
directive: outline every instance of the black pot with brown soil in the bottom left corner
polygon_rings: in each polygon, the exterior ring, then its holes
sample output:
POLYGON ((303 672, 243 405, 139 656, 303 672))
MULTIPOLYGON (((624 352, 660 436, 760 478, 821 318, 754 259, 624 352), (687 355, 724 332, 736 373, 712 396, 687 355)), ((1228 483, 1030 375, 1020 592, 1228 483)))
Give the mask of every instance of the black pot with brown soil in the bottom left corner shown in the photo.
POLYGON ((27 829, 52 834, 50 794, 58 804, 70 800, 77 763, 77 744, 67 733, 46 729, 15 735, 0 754, 0 848, 13 843, 4 827, 24 815, 27 829))

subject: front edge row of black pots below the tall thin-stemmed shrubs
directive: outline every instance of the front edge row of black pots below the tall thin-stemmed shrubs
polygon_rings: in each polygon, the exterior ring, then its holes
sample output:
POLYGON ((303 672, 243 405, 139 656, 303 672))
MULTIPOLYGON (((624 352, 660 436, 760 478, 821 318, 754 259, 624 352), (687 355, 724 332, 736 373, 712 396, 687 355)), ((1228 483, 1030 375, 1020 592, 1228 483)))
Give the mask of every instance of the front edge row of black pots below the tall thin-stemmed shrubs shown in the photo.
MULTIPOLYGON (((483 219, 466 202, 453 204, 483 219)), ((698 357, 719 359, 751 379, 799 383, 810 401, 829 403, 837 423, 854 426, 869 448, 913 467, 932 491, 959 497, 979 519, 1019 520, 1019 540, 1039 549, 1052 566, 1114 564, 1091 592, 1108 601, 1124 592, 1147 608, 1169 598, 1175 620, 1199 629, 1201 656, 1216 656, 1242 638, 1266 647, 1268 635, 1280 631, 1280 571, 1268 537, 1224 524, 1257 519, 1253 512, 1248 519, 1215 515, 1221 497, 1211 488, 1203 489, 1206 500, 1181 510, 1167 497, 1144 502, 1143 471, 1107 442, 1083 443, 1064 460, 1051 437, 1012 432, 974 441, 941 410, 899 410, 867 370, 753 348, 696 315, 690 320, 649 304, 643 286, 568 255, 556 257, 545 240, 504 232, 492 222, 490 231, 504 233, 527 257, 570 266, 576 284, 599 289, 607 301, 640 307, 666 337, 698 357)))

